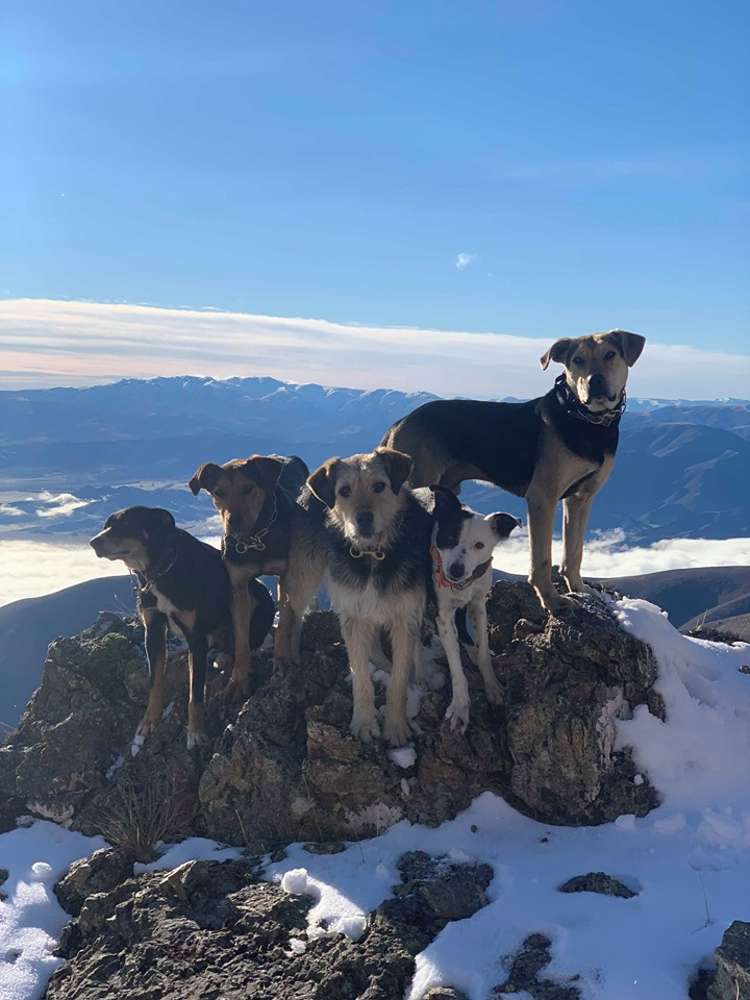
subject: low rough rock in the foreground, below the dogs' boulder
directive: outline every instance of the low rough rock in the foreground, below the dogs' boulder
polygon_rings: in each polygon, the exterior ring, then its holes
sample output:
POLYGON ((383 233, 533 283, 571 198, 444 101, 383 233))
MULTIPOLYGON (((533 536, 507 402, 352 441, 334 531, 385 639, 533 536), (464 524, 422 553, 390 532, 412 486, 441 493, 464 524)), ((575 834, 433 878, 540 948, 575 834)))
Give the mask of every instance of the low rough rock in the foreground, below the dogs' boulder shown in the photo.
POLYGON ((399 873, 356 941, 308 932, 312 901, 259 881, 245 861, 141 875, 85 900, 64 933, 68 961, 47 998, 395 1000, 414 956, 448 921, 484 906, 492 879, 488 865, 420 852, 404 855, 399 873))

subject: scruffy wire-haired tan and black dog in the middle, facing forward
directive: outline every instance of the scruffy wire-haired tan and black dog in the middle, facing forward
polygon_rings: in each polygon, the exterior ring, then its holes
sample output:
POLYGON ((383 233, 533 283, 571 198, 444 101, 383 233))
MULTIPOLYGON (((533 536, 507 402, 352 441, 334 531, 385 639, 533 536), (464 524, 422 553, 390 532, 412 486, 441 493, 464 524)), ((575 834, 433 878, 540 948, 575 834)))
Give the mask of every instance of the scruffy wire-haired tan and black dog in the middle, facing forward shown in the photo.
POLYGON ((431 516, 405 485, 411 459, 377 448, 331 458, 308 485, 326 509, 317 545, 325 582, 341 623, 352 672, 352 733, 376 737, 379 724, 369 661, 380 630, 390 635, 393 669, 386 697, 386 739, 409 735, 407 686, 425 612, 431 516))

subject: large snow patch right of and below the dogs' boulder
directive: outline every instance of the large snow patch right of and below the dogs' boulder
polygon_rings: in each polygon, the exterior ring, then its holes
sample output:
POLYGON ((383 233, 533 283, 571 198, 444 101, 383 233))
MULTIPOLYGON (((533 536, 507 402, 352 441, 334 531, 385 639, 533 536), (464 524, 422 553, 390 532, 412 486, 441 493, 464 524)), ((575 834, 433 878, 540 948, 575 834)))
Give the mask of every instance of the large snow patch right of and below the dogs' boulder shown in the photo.
POLYGON ((292 845, 268 873, 282 878, 305 861, 319 892, 308 939, 351 918, 364 933, 364 914, 391 895, 405 851, 466 856, 494 869, 488 905, 448 924, 417 956, 408 1000, 437 986, 487 1000, 535 932, 552 941, 540 975, 575 986, 586 1000, 684 1000, 724 930, 750 919, 750 677, 739 670, 748 647, 688 639, 645 601, 613 602, 612 610, 658 659, 666 721, 642 706, 617 729, 661 806, 643 819, 555 827, 485 793, 439 827, 402 821, 333 856, 310 857, 292 845), (590 871, 638 886, 639 895, 559 891, 590 871))

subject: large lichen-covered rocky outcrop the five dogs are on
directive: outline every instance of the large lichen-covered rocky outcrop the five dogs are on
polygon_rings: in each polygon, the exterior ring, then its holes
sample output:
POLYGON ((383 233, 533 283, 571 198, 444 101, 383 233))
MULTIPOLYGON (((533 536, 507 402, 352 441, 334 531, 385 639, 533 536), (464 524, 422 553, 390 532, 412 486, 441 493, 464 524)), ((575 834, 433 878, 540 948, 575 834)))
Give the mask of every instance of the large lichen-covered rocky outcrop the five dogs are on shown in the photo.
POLYGON ((42 685, 0 748, 0 802, 141 856, 187 833, 253 851, 357 839, 400 819, 440 823, 488 790, 549 823, 644 815, 657 793, 647 778, 633 780, 628 753, 615 749, 615 720, 644 703, 663 714, 650 649, 596 597, 546 618, 526 584, 501 582, 488 611, 502 704, 487 702, 467 663, 471 722, 454 732, 443 720, 447 676, 442 686, 433 676, 418 714, 416 698, 412 706, 412 754, 349 734, 346 651, 335 616, 317 612, 299 665, 274 672, 270 653, 256 659, 255 691, 239 713, 212 679, 202 752, 185 749, 186 672, 173 655, 171 710, 132 757, 147 688, 141 631, 103 620, 50 648, 42 685))

